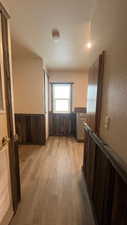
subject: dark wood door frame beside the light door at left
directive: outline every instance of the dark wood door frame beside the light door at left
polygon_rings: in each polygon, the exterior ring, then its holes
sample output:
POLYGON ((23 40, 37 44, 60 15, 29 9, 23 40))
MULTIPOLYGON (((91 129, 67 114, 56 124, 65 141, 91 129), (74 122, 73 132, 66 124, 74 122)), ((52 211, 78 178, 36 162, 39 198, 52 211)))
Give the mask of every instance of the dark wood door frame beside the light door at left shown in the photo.
POLYGON ((4 64, 4 81, 5 81, 5 98, 7 110, 7 127, 9 142, 9 160, 10 160, 10 175, 11 175, 11 190, 13 209, 16 212, 18 203, 21 200, 20 189, 20 172, 19 172, 19 155, 18 155, 18 140, 15 133, 14 109, 13 109, 13 86, 12 86, 12 61, 11 61, 11 43, 9 18, 1 13, 2 20, 2 41, 3 41, 3 64, 4 64))

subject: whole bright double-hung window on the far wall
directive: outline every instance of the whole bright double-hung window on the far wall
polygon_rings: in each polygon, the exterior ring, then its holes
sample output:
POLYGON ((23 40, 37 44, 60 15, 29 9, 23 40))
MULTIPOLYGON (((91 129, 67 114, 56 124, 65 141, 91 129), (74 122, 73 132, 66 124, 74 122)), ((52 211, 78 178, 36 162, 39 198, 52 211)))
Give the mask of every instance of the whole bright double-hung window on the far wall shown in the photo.
POLYGON ((53 84, 53 112, 70 113, 71 112, 71 90, 72 85, 67 83, 53 84))

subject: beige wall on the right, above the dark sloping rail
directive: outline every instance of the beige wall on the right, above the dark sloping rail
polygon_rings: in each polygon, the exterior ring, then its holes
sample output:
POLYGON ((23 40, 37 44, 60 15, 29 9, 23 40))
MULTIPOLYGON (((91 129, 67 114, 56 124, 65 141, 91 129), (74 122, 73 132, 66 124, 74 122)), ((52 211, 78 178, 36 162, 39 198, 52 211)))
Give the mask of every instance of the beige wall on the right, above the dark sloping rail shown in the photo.
POLYGON ((127 1, 97 0, 92 22, 94 59, 106 50, 101 137, 127 162, 127 1), (104 128, 105 116, 109 129, 104 128))

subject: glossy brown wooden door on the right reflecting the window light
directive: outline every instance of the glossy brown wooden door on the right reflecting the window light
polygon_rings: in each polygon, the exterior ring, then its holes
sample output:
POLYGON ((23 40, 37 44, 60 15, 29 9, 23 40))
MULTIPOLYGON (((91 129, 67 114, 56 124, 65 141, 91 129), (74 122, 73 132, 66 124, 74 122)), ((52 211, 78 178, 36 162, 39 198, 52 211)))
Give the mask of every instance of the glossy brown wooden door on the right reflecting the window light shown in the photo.
POLYGON ((88 125, 99 135, 104 74, 104 52, 89 71, 87 114, 88 125))

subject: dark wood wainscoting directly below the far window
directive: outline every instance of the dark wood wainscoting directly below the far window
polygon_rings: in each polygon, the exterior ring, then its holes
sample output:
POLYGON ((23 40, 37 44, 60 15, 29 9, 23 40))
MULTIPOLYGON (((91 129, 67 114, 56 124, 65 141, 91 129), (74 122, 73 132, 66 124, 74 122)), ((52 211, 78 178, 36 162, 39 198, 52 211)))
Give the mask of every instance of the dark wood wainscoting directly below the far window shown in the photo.
POLYGON ((76 114, 49 113, 50 136, 76 136, 76 114))

